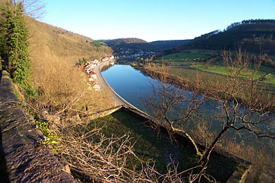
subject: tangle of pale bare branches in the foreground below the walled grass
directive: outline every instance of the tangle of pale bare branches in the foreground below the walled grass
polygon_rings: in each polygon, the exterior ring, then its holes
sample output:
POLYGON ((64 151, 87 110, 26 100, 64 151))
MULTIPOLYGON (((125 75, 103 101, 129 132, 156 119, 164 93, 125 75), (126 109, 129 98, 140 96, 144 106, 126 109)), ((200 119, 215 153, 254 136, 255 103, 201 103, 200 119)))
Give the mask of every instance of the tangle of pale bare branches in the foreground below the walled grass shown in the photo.
MULTIPOLYGON (((196 182, 208 180, 216 182, 211 175, 204 173, 204 169, 195 166, 186 171, 177 171, 177 164, 167 166, 167 173, 159 173, 154 164, 142 164, 135 155, 135 142, 129 134, 123 136, 106 137, 101 128, 89 129, 88 123, 76 127, 56 127, 59 141, 63 145, 61 156, 67 159, 69 166, 78 175, 82 175, 85 182, 196 182), (81 129, 81 130, 80 130, 81 129), (141 169, 131 168, 131 162, 140 162, 141 169), (151 165, 149 165, 151 164, 151 165)), ((104 128, 104 127, 102 127, 104 128)))

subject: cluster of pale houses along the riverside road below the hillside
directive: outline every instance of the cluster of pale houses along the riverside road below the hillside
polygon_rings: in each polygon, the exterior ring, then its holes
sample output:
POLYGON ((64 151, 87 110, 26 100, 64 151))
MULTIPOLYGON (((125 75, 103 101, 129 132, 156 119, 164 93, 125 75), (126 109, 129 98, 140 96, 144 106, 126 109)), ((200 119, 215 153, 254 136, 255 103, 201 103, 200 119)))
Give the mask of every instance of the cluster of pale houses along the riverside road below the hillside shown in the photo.
POLYGON ((105 62, 105 61, 113 61, 110 62, 111 65, 115 64, 115 56, 107 56, 102 58, 101 60, 91 60, 86 62, 85 64, 78 64, 78 68, 82 69, 85 73, 87 73, 87 75, 89 75, 89 82, 92 82, 94 84, 94 89, 95 90, 100 90, 100 86, 98 84, 96 84, 96 66, 100 63, 100 62, 105 62))

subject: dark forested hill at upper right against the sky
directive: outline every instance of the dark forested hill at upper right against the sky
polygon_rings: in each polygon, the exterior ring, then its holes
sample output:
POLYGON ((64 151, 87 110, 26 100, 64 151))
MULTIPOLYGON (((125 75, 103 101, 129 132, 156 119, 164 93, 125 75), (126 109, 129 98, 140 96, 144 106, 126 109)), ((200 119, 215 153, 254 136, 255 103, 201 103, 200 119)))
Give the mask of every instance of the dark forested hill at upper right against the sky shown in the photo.
POLYGON ((219 30, 203 34, 187 44, 183 49, 226 49, 235 50, 241 46, 250 52, 275 55, 275 20, 248 20, 232 23, 222 32, 219 30))

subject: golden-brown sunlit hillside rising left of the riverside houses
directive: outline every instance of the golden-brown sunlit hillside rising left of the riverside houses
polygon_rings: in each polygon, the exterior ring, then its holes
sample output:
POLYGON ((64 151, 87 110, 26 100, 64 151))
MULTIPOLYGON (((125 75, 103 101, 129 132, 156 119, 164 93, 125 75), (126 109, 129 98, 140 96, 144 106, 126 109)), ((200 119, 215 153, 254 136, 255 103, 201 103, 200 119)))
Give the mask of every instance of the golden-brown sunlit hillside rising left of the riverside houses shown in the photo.
POLYGON ((109 103, 100 106, 107 97, 95 93, 87 75, 76 69, 74 64, 83 58, 90 60, 109 56, 113 50, 65 29, 30 18, 27 22, 31 82, 39 93, 36 105, 49 111, 63 110, 70 105, 77 110, 82 110, 83 105, 89 109, 108 108, 109 103), (77 97, 77 102, 72 103, 77 97))

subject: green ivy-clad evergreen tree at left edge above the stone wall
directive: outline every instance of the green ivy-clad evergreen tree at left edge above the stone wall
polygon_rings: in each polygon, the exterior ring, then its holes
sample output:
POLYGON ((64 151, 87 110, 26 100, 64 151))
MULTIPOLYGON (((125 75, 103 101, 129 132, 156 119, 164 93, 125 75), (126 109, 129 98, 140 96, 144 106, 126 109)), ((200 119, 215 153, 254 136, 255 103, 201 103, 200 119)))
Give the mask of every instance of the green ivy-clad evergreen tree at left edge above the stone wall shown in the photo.
POLYGON ((8 3, 2 8, 1 57, 3 68, 12 80, 23 88, 29 87, 28 29, 25 27, 23 5, 8 3))

